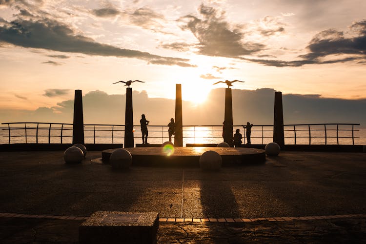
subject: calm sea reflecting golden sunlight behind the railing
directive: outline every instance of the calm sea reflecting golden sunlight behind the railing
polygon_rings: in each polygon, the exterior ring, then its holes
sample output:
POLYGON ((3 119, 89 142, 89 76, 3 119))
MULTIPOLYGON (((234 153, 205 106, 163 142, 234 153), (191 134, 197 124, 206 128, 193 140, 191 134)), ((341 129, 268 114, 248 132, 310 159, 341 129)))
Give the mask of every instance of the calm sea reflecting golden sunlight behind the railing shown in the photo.
MULTIPOLYGON (((33 124, 27 125, 27 139, 25 139, 24 127, 10 127, 11 136, 10 143, 35 143, 36 142, 36 127, 33 124), (26 141, 25 141, 26 140, 26 141)), ((134 133, 135 143, 141 143, 140 126, 135 126, 134 133)), ((234 126, 234 131, 240 129, 240 133, 245 136, 243 127, 234 126)), ((325 144, 324 125, 311 125, 311 144, 325 144)), ((7 127, 0 127, 0 144, 9 142, 7 127)), ((84 136, 85 143, 123 143, 124 126, 85 126, 84 136), (113 141, 112 141, 113 134, 113 141), (95 136, 95 137, 94 137, 95 136)), ((168 141, 167 126, 148 126, 149 137, 147 142, 150 144, 160 144, 168 141)), ((327 125, 327 144, 337 144, 336 125, 327 125)), ((338 132, 339 144, 352 144, 352 126, 339 125, 338 132)), ((354 139, 355 144, 366 145, 366 129, 355 126, 354 139), (357 138, 359 137, 359 138, 357 138)), ((48 143, 49 127, 39 127, 38 143, 48 143)), ((266 144, 272 141, 273 127, 272 126, 253 126, 251 133, 252 144, 266 144), (263 131, 262 131, 263 130, 263 131), (263 135, 263 139, 262 139, 263 135)), ((220 143, 222 142, 222 126, 183 126, 183 144, 186 143, 220 143)), ((61 143, 61 125, 52 125, 50 132, 51 143, 61 143)), ((62 143, 72 142, 72 127, 64 126, 62 129, 62 143)), ((173 136, 174 142, 174 136, 173 136)), ((244 139, 243 139, 244 142, 244 139)), ((246 142, 246 139, 245 139, 246 142)), ((285 143, 294 144, 293 126, 285 126, 285 143)), ((309 144, 308 126, 296 126, 296 144, 309 144)))

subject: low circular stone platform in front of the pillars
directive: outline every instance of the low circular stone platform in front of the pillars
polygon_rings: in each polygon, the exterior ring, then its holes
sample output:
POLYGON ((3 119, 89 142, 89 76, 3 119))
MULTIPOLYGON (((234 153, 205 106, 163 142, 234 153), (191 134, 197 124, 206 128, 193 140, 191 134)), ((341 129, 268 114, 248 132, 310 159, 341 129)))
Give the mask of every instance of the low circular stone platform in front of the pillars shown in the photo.
MULTIPOLYGON (((168 156, 163 147, 127 147, 132 155, 132 165, 145 166, 199 166, 200 156, 205 151, 215 151, 223 159, 223 165, 244 165, 265 163, 265 151, 244 147, 175 147, 168 156)), ((102 151, 102 162, 109 163, 109 157, 117 149, 102 151)))

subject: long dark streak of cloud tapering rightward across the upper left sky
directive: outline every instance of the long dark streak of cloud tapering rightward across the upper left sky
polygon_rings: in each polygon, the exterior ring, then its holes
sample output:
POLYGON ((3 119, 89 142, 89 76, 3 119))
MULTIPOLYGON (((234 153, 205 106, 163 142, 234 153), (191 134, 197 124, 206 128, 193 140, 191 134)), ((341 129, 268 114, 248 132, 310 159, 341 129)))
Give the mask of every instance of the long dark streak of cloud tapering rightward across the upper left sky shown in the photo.
POLYGON ((123 49, 78 35, 68 25, 56 20, 14 20, 0 26, 0 41, 31 48, 86 55, 136 58, 150 63, 192 67, 188 59, 163 57, 138 50, 123 49))

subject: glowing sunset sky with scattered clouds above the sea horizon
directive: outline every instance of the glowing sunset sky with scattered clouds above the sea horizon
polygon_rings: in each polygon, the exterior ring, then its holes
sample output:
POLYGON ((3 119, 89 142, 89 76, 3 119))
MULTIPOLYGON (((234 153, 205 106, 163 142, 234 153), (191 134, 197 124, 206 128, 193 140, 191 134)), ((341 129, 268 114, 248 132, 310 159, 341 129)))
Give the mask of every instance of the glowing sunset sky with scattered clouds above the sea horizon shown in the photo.
POLYGON ((125 87, 113 83, 140 80, 135 121, 169 122, 181 83, 185 121, 220 124, 226 85, 213 83, 240 80, 234 123, 270 122, 273 111, 260 111, 273 102, 261 94, 282 91, 287 122, 365 124, 365 9, 365 0, 0 0, 0 122, 70 122, 81 89, 87 123, 121 124, 125 87))

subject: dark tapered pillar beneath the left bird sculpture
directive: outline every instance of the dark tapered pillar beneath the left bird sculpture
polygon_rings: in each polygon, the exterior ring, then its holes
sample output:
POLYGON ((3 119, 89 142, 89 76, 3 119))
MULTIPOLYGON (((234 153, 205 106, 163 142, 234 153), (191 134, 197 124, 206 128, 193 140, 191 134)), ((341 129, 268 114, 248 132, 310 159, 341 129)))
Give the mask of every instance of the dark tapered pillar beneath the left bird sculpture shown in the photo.
POLYGON ((134 147, 133 142, 132 88, 126 88, 126 110, 124 116, 124 147, 134 147))

